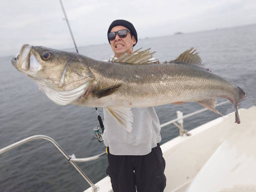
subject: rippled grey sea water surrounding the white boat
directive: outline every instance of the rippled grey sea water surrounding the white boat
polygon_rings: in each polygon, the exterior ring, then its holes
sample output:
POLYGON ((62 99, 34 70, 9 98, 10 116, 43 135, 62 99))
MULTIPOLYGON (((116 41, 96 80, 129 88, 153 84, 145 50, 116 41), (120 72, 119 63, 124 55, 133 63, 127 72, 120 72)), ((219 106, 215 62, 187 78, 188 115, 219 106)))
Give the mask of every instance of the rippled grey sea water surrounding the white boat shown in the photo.
MULTIPOLYGON (((40 46, 40 45, 36 45, 40 46)), ((256 25, 219 30, 139 39, 134 48, 147 49, 160 61, 175 59, 195 47, 206 68, 241 87, 247 98, 240 108, 256 105, 256 25)), ((79 53, 94 59, 112 55, 109 44, 80 47, 79 53)), ((75 51, 70 49, 68 51, 75 51)), ((13 53, 13 56, 16 53, 13 53)), ((93 133, 98 125, 94 108, 53 103, 37 85, 11 64, 13 56, 0 57, 0 148, 33 135, 52 137, 69 154, 77 158, 104 152, 93 133)), ((224 99, 218 99, 219 102, 224 99)), ((156 106, 160 123, 203 109, 198 103, 156 106)), ((226 115, 234 111, 232 104, 218 107, 226 115)), ((103 117, 102 109, 100 114, 103 117)), ((184 120, 187 130, 220 117, 207 111, 184 120)), ((243 119, 241 119, 241 125, 243 119)), ((163 127, 161 144, 177 137, 175 125, 163 127)), ((106 176, 106 156, 91 162, 77 163, 83 172, 97 182, 106 176)), ((83 191, 89 184, 48 141, 35 140, 0 155, 0 191, 83 191)))

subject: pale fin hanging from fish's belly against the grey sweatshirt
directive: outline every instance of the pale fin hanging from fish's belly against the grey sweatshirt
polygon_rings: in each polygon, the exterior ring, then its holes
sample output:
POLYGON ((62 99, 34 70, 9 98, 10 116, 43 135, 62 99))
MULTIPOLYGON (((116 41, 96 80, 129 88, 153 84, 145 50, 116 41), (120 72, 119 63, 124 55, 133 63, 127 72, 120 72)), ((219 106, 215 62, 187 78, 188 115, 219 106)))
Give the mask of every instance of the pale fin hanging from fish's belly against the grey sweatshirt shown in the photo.
POLYGON ((132 132, 133 113, 130 108, 118 107, 105 108, 129 133, 132 132))

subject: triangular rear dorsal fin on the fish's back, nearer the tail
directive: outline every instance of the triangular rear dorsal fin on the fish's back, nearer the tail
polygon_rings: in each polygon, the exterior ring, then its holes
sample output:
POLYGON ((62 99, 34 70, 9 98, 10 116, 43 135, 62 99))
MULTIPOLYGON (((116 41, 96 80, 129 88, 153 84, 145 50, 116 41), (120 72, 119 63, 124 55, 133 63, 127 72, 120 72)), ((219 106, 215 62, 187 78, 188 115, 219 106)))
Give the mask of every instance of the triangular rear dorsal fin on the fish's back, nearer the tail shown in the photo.
POLYGON ((180 56, 177 59, 171 60, 169 62, 177 62, 177 61, 178 62, 187 62, 187 63, 194 64, 194 65, 197 65, 197 66, 204 66, 203 63, 202 63, 201 58, 198 55, 198 53, 193 54, 197 50, 196 49, 193 50, 193 49, 194 49, 194 47, 185 51, 184 53, 180 54, 180 56))

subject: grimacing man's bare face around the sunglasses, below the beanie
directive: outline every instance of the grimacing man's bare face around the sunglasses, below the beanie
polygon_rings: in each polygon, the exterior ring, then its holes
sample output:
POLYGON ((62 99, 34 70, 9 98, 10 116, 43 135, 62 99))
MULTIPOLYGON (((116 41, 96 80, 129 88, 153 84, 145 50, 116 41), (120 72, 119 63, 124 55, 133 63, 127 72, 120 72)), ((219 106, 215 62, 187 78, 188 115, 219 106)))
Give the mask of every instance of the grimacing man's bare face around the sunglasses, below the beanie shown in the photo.
MULTIPOLYGON (((127 28, 123 26, 115 26, 111 29, 110 32, 116 32, 122 29, 127 29, 127 28)), ((136 39, 134 36, 131 38, 131 33, 129 32, 127 32, 127 36, 124 38, 120 38, 118 34, 116 34, 116 38, 110 41, 111 48, 114 51, 116 57, 121 56, 125 52, 127 52, 127 54, 132 53, 133 45, 135 44, 136 44, 136 39)))

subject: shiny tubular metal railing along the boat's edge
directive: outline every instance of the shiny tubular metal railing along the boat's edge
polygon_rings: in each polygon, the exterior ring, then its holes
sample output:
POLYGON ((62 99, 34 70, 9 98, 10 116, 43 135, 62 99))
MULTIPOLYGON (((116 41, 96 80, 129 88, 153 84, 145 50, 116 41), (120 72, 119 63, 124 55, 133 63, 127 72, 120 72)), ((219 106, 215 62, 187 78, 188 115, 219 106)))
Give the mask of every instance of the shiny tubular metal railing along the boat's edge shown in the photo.
MULTIPOLYGON (((220 106, 220 105, 223 105, 223 104, 226 104, 228 103, 229 101, 225 101, 225 102, 222 102, 222 103, 219 103, 219 104, 216 104, 216 106, 220 106)), ((207 111, 208 109, 202 109, 202 110, 199 110, 199 111, 196 111, 196 112, 193 112, 193 113, 190 113, 190 114, 187 114, 187 115, 184 115, 182 114, 182 112, 180 111, 177 111, 177 116, 178 118, 177 119, 174 119, 172 121, 168 121, 166 123, 163 123, 160 125, 160 127, 164 127, 164 126, 167 126, 169 124, 172 124, 174 123, 178 128, 179 128, 179 131, 180 131, 180 136, 183 136, 183 134, 189 136, 190 134, 187 133, 187 130, 184 130, 183 129, 183 119, 185 118, 188 118, 188 117, 191 117, 191 116, 194 116, 194 115, 197 115, 199 113, 202 113, 204 111, 207 111), (178 121, 178 123, 176 123, 178 121)), ((24 143, 27 143, 29 141, 32 141, 32 140, 35 140, 35 139, 45 139, 45 140, 48 140, 50 141, 58 150, 59 152, 76 168, 76 170, 79 172, 79 174, 89 183, 89 185, 91 185, 92 187, 92 191, 98 191, 99 190, 99 187, 98 186, 95 186, 92 181, 82 172, 82 170, 76 165, 75 162, 87 162, 87 161, 92 161, 92 160, 95 160, 95 159, 98 159, 104 155, 106 155, 106 152, 103 152, 101 154, 98 154, 98 155, 95 155, 95 156, 92 156, 92 157, 88 157, 88 158, 75 158, 75 156, 69 156, 59 145, 56 141, 54 141, 51 137, 48 137, 48 136, 45 136, 45 135, 35 135, 35 136, 31 136, 31 137, 28 137, 26 139, 23 139, 23 140, 20 140, 16 143, 13 143, 7 147, 4 147, 0 150, 0 154, 3 154, 9 150, 11 150, 12 148, 15 148, 19 145, 22 145, 24 143)))

